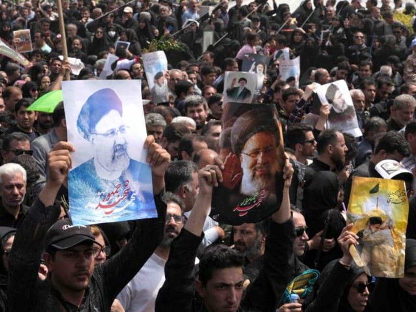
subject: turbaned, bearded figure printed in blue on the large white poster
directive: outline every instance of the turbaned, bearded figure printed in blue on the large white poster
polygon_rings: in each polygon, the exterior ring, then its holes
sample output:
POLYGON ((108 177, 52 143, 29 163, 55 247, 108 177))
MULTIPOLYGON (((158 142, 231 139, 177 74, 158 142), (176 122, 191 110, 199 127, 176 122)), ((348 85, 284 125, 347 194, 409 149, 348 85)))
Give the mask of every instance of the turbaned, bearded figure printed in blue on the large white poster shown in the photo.
POLYGON ((122 116, 123 104, 110 88, 96 91, 83 104, 77 127, 94 157, 69 174, 74 205, 104 209, 105 214, 139 205, 143 212, 150 208, 150 174, 146 166, 129 156, 130 133, 122 116))

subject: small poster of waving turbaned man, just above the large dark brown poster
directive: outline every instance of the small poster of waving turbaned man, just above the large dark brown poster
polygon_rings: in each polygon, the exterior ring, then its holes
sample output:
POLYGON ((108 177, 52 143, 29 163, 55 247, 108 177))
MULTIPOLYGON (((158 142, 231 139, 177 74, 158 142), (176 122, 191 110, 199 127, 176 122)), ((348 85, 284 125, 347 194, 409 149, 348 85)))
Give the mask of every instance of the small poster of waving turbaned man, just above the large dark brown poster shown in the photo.
POLYGON ((224 103, 251 103, 257 86, 257 75, 254 73, 225 72, 224 103))

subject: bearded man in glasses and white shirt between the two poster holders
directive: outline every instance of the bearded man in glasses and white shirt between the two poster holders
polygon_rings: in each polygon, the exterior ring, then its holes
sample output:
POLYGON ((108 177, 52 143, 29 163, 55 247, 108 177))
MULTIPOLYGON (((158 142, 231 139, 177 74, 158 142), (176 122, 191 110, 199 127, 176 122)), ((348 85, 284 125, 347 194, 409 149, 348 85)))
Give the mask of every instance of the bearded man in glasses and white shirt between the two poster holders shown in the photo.
POLYGON ((149 260, 117 296, 126 312, 155 311, 156 295, 165 281, 164 270, 170 246, 184 225, 182 214, 185 205, 181 198, 167 192, 166 205, 166 223, 162 241, 149 260))

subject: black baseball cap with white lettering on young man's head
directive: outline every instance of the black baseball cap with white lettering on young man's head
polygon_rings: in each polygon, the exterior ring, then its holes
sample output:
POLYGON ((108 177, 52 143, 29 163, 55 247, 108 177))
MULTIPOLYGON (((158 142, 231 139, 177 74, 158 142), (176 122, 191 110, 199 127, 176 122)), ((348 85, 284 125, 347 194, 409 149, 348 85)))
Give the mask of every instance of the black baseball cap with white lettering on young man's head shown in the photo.
POLYGON ((64 218, 57 221, 46 233, 46 246, 67 249, 83 242, 96 243, 89 226, 73 225, 72 220, 64 218))

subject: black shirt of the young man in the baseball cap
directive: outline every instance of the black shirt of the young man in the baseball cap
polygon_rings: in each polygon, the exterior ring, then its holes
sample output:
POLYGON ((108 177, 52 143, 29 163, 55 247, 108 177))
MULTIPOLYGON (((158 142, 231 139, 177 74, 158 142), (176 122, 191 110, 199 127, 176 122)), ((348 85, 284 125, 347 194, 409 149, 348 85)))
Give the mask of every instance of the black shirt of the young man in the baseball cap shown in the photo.
POLYGON ((50 278, 40 281, 38 270, 42 241, 47 230, 58 219, 59 206, 45 207, 39 199, 30 208, 17 231, 9 254, 9 302, 12 311, 109 312, 116 295, 140 270, 159 244, 165 224, 164 193, 155 197, 158 218, 138 220, 136 231, 117 255, 96 266, 81 306, 65 302, 53 288, 50 278), (25 300, 22 300, 25 298, 25 300))

